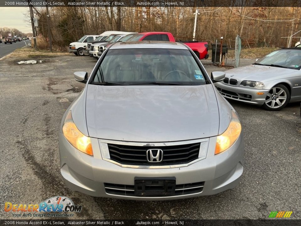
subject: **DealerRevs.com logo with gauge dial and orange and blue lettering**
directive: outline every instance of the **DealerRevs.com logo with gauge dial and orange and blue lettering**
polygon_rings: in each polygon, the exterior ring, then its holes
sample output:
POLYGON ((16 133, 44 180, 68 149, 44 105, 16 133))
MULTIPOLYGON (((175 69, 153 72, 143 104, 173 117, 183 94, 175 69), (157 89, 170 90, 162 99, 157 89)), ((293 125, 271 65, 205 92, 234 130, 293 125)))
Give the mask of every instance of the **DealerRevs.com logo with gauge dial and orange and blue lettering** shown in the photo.
POLYGON ((73 217, 81 212, 81 205, 74 205, 70 198, 55 196, 40 204, 13 204, 5 202, 5 212, 12 212, 13 217, 73 217))

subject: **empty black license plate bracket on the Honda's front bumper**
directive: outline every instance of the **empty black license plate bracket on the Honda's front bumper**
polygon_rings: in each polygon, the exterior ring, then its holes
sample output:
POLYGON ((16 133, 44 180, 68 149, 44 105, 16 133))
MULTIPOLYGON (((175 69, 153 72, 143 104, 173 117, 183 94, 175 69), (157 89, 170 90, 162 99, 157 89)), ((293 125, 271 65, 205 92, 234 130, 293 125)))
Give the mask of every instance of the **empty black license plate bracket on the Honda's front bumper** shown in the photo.
POLYGON ((172 196, 176 191, 176 178, 135 178, 135 196, 172 196))

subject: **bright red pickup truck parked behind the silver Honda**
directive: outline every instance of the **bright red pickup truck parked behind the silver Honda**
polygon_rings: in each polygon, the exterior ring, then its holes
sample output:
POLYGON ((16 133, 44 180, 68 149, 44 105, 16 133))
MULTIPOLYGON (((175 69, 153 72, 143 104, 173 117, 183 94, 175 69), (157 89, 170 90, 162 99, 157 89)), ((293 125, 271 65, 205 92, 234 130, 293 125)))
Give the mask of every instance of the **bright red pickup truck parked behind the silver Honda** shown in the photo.
MULTIPOLYGON (((128 41, 171 41, 175 42, 172 33, 169 32, 143 32, 133 35, 128 41)), ((177 41, 187 45, 201 59, 207 59, 208 43, 198 41, 177 41)))

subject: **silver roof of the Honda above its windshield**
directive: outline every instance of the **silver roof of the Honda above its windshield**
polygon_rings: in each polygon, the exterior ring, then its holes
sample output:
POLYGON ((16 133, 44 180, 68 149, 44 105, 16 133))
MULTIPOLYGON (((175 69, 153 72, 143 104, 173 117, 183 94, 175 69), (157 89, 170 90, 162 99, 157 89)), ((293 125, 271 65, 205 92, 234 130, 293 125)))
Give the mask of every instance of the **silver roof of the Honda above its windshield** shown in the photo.
POLYGON ((177 42, 167 41, 128 41, 116 42, 110 49, 182 49, 187 50, 187 46, 177 42))

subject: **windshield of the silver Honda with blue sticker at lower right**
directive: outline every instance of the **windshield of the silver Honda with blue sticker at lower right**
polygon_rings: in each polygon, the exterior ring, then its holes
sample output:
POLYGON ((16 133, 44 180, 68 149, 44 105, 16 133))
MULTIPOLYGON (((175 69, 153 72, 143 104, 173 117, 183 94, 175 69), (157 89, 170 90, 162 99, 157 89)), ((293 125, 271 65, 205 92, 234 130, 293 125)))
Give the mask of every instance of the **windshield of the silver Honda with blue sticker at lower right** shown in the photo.
POLYGON ((188 50, 114 49, 108 50, 93 84, 203 85, 206 80, 188 50))

